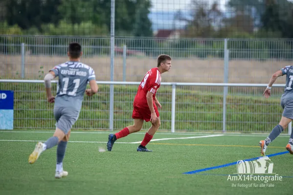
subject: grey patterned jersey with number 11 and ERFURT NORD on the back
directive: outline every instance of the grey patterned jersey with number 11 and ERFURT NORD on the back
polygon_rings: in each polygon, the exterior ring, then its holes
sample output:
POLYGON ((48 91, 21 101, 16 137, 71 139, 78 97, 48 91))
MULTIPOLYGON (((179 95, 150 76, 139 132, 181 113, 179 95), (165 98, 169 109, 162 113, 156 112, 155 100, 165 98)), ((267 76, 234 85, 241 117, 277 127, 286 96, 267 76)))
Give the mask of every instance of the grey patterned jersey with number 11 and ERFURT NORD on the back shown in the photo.
POLYGON ((51 71, 58 78, 55 107, 71 107, 80 111, 88 81, 95 80, 93 69, 79 61, 68 61, 51 71))

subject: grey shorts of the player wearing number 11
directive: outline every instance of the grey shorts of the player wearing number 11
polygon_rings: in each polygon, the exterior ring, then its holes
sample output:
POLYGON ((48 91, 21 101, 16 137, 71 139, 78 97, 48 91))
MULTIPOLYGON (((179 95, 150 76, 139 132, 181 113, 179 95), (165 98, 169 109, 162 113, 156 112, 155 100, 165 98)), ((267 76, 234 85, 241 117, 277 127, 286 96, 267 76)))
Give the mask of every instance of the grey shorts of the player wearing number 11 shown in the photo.
POLYGON ((56 127, 61 129, 65 135, 71 129, 72 125, 76 122, 79 116, 79 111, 66 108, 66 107, 54 107, 54 117, 56 119, 56 127))

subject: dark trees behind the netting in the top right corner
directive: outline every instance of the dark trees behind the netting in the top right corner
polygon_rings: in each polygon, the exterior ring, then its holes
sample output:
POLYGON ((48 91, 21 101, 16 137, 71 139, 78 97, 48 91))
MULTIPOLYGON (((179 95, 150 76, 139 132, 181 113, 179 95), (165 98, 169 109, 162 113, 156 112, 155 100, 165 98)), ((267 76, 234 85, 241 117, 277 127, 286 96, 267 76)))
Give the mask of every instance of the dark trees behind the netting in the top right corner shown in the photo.
MULTIPOLYGON (((239 30, 251 33, 252 20, 253 26, 260 29, 257 36, 293 38, 293 3, 289 0, 229 0, 228 6, 234 10, 234 23, 239 30), (241 16, 245 23, 238 22, 241 16)), ((231 19, 227 23, 231 24, 231 19)))

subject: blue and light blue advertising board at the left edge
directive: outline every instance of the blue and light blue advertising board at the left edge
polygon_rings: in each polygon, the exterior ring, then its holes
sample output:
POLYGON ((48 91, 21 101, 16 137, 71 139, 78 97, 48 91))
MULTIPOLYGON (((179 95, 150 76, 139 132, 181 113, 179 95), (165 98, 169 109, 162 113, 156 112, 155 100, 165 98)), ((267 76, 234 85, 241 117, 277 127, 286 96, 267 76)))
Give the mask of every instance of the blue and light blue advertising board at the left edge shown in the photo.
POLYGON ((0 90, 0 129, 13 129, 13 91, 0 90))

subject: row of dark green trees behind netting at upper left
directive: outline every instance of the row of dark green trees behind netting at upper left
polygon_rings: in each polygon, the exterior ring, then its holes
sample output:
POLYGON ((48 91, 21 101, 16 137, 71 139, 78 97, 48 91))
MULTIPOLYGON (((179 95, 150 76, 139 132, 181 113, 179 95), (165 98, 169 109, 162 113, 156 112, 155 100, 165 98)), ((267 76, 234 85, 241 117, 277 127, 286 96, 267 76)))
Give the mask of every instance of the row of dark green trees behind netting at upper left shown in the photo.
MULTIPOLYGON (((11 26, 17 24, 26 32, 36 28, 45 33, 43 25, 88 26, 91 23, 95 29, 105 32, 107 26, 111 29, 110 0, 7 0, 5 9, 0 14, 11 26), (70 24, 70 25, 69 25, 70 24)), ((2 1, 0 1, 0 5, 2 1)), ((115 32, 116 35, 152 36, 152 25, 148 18, 150 0, 116 0, 115 2, 115 32)), ((87 29, 85 34, 88 34, 87 29)), ((78 31, 81 32, 80 30, 78 31)), ((96 31, 98 32, 98 30, 96 31)))

